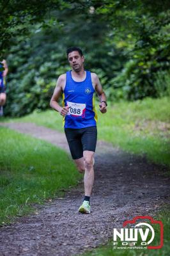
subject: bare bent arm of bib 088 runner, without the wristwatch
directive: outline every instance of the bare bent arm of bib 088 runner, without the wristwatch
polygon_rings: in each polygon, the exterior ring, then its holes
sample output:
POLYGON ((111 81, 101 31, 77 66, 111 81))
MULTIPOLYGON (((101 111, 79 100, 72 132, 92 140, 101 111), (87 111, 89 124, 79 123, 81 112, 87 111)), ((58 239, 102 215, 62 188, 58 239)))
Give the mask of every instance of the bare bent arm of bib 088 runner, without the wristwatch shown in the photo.
POLYGON ((68 107, 61 107, 58 104, 59 97, 63 92, 63 88, 65 86, 65 75, 61 75, 58 77, 58 81, 56 83, 56 88, 54 89, 54 93, 50 99, 50 107, 54 110, 58 111, 62 116, 66 116, 68 113, 68 107))

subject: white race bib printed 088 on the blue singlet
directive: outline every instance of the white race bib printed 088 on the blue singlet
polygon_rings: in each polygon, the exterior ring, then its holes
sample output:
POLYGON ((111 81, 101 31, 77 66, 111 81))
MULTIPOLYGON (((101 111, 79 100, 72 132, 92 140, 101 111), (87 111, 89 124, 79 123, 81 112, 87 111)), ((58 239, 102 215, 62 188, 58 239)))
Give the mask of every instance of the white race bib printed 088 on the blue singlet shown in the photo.
POLYGON ((67 115, 72 115, 75 117, 76 116, 85 117, 86 104, 74 103, 70 101, 67 101, 66 104, 68 107, 70 107, 67 115))

